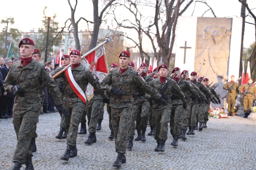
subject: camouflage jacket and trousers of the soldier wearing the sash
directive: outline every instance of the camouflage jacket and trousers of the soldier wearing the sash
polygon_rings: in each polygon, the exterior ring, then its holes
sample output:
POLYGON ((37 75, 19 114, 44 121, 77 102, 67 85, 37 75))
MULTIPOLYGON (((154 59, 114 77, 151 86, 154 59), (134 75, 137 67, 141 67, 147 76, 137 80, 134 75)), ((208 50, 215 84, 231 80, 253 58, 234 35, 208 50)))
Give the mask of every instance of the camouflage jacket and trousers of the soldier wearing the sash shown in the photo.
MULTIPOLYGON (((64 67, 58 68, 57 70, 52 71, 52 75, 55 75, 61 71, 64 67)), ((85 92, 87 84, 90 83, 95 91, 97 91, 103 98, 106 97, 104 91, 100 88, 99 79, 85 68, 82 64, 73 69, 71 66, 72 75, 75 82, 80 86, 80 88, 85 92)), ((76 137, 78 132, 78 126, 84 112, 85 103, 77 97, 73 89, 71 88, 66 74, 63 72, 59 74, 56 79, 63 78, 63 86, 65 95, 63 98, 63 106, 68 110, 69 116, 65 117, 66 130, 67 130, 67 145, 75 146, 76 137)))

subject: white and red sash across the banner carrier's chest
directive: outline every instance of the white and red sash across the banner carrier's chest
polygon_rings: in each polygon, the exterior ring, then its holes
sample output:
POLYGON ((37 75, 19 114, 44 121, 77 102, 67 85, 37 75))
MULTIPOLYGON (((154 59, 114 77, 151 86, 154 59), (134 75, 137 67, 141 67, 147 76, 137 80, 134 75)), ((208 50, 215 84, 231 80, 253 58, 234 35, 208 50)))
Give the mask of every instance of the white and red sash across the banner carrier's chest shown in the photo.
POLYGON ((75 94, 86 104, 86 96, 84 94, 84 91, 81 89, 81 87, 75 82, 75 79, 71 71, 71 66, 67 70, 65 70, 65 75, 68 79, 68 82, 71 88, 74 90, 75 94))

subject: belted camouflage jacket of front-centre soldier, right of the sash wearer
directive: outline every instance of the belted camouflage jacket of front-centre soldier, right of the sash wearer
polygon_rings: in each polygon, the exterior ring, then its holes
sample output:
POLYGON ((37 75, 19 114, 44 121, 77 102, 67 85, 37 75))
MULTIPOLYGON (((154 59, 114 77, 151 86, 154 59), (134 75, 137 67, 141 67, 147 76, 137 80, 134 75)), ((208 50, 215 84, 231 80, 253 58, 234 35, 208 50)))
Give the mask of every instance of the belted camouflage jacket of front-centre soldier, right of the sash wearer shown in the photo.
MULTIPOLYGON (((129 67, 122 75, 120 68, 113 69, 101 82, 101 86, 104 90, 111 93, 112 88, 118 88, 123 91, 122 96, 132 96, 136 85, 156 99, 161 97, 156 89, 146 84, 145 80, 138 75, 137 71, 129 67)), ((133 98, 119 99, 112 97, 110 106, 114 108, 132 107, 133 98)))

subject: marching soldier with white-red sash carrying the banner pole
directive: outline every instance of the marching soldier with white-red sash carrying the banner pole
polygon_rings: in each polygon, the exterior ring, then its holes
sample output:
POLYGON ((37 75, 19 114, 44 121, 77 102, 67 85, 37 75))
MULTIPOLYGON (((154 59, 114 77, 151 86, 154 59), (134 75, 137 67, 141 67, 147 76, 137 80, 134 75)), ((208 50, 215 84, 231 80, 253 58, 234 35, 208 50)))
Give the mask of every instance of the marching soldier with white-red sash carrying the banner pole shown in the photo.
MULTIPOLYGON (((65 117, 67 134, 67 149, 65 154, 60 158, 68 161, 70 155, 72 157, 77 155, 76 137, 78 126, 84 111, 86 97, 85 91, 87 84, 90 83, 95 91, 103 98, 104 102, 108 102, 104 91, 100 88, 99 79, 85 68, 81 63, 81 53, 78 50, 72 50, 70 53, 71 66, 65 70, 65 73, 60 73, 56 79, 63 78, 65 95, 63 98, 63 105, 67 108, 69 114, 65 117), (72 81, 73 80, 73 81, 72 81), (76 91, 76 92, 75 92, 76 91), (72 151, 72 153, 71 153, 72 151)), ((52 72, 55 75, 64 67, 58 68, 52 72)))

